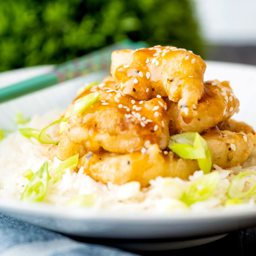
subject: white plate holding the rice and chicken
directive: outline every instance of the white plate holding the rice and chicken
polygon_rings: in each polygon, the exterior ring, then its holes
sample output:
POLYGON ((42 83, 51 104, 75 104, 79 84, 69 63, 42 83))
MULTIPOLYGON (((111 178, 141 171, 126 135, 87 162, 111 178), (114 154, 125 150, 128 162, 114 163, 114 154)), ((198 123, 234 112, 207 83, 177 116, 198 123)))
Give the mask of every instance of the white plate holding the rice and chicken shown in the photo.
MULTIPOLYGON (((8 84, 9 79, 17 81, 40 74, 51 67, 14 70, 0 74, 0 84, 8 84), (11 79, 12 78, 12 79, 11 79)), ((1 128, 15 127, 14 115, 21 110, 27 115, 43 113, 54 107, 66 107, 75 97, 76 90, 85 81, 101 80, 105 75, 93 73, 72 81, 0 105, 1 128)), ((240 100, 240 112, 234 118, 256 127, 255 88, 256 67, 250 65, 207 62, 205 80, 229 80, 235 95, 240 100)), ((224 212, 201 214, 128 214, 95 212, 87 209, 56 208, 47 204, 25 204, 0 199, 0 212, 62 233, 93 238, 156 239, 172 238, 188 240, 200 236, 214 236, 256 225, 256 209, 229 209, 224 212)), ((213 240, 212 239, 212 240, 213 240)), ((193 240, 193 239, 192 239, 193 240)), ((201 240, 201 243, 211 239, 201 240)), ((192 242, 196 244, 196 242, 192 242)), ((191 245, 187 243, 187 245, 191 245)), ((178 247, 183 245, 178 245, 178 247)), ((175 247, 175 246, 174 246, 175 247)), ((177 247, 177 245, 176 245, 177 247)))

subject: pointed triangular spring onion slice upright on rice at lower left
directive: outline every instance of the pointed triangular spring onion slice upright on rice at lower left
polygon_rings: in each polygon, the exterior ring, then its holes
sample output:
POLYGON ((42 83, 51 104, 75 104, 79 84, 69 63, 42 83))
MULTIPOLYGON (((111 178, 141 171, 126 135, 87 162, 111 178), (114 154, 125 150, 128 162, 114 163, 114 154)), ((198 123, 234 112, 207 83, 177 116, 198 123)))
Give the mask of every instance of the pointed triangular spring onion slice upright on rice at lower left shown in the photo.
POLYGON ((28 182, 21 195, 21 200, 31 202, 42 201, 47 192, 49 178, 47 161, 45 161, 28 182))

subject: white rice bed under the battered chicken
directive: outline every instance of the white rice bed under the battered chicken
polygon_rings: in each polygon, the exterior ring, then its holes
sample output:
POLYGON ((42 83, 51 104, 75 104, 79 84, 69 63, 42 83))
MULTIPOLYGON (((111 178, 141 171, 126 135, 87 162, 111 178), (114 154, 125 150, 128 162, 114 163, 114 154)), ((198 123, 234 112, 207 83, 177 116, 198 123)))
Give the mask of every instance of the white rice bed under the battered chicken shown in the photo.
MULTIPOLYGON (((34 116, 26 127, 42 129, 49 123, 58 119, 59 110, 54 110, 44 116, 34 116)), ((9 134, 0 142, 0 198, 20 199, 22 192, 28 183, 28 179, 23 177, 23 172, 31 169, 33 172, 39 170, 47 158, 41 154, 41 144, 34 138, 27 139, 18 131, 9 134)), ((50 162, 50 161, 48 161, 50 162)), ((53 176, 55 168, 61 161, 54 158, 53 167, 50 176, 53 176)), ((168 212, 181 211, 187 212, 208 212, 213 210, 225 210, 230 207, 255 207, 256 196, 244 198, 244 204, 224 207, 228 199, 226 192, 230 181, 234 175, 241 171, 256 171, 256 152, 254 151, 244 166, 236 166, 228 170, 223 170, 214 165, 220 174, 220 182, 213 196, 206 201, 200 201, 192 204, 190 207, 184 207, 184 204, 177 200, 176 187, 170 187, 172 193, 166 193, 164 184, 168 179, 174 181, 176 186, 180 185, 185 189, 192 181, 202 177, 203 171, 194 172, 189 180, 184 181, 180 178, 162 178, 157 177, 150 181, 150 186, 140 188, 138 182, 129 182, 122 186, 112 183, 107 185, 96 182, 91 177, 84 174, 81 167, 76 173, 66 169, 62 178, 53 184, 53 178, 49 181, 48 191, 44 202, 51 204, 65 204, 70 198, 85 194, 94 194, 95 203, 92 208, 97 210, 125 210, 128 212, 168 212), (178 184, 178 185, 177 185, 178 184)))

